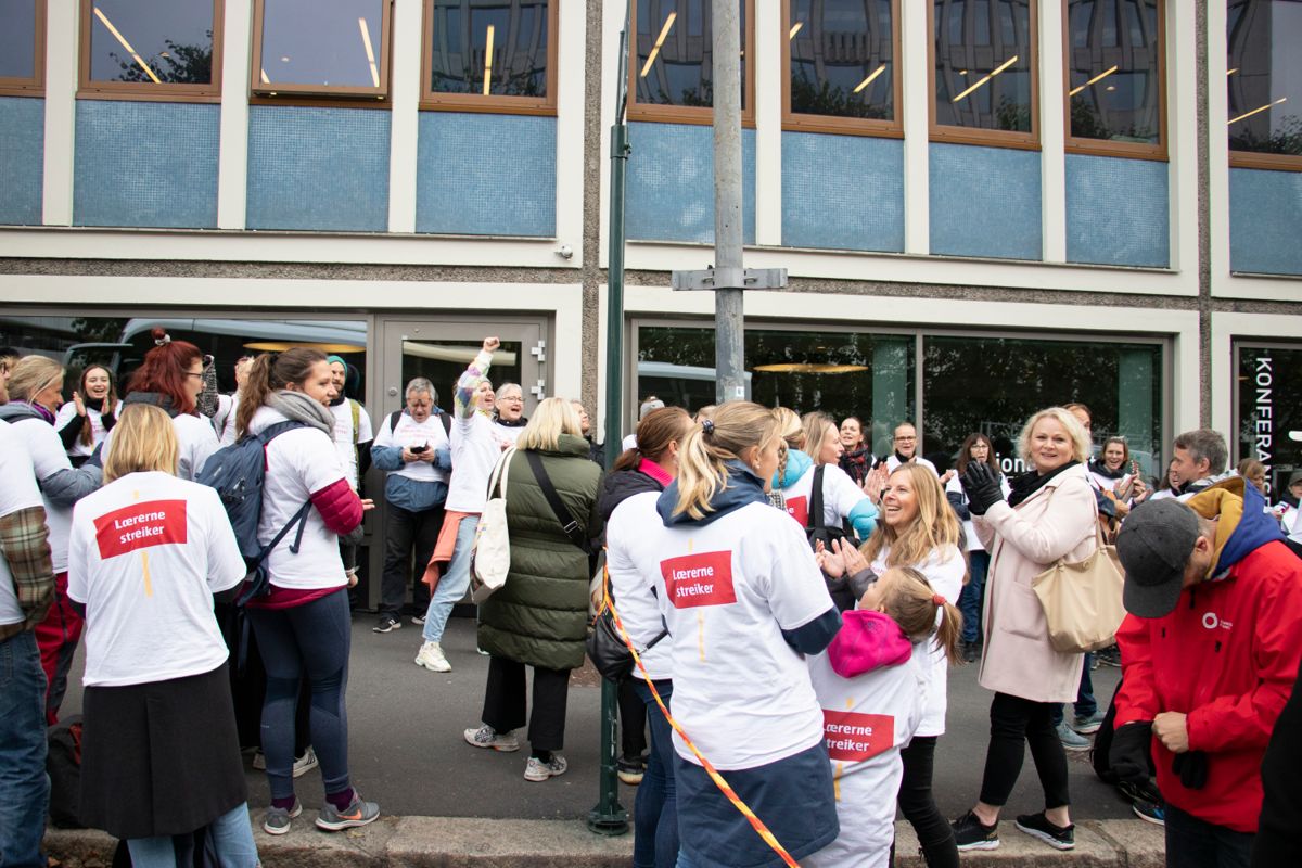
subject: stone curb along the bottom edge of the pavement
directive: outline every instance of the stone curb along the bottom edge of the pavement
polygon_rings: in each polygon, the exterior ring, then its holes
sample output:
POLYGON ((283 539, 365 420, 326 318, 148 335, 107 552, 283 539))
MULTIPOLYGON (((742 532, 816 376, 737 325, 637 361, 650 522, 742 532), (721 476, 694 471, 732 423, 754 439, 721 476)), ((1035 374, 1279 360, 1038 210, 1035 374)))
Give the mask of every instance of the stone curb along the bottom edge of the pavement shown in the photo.
MULTIPOLYGON (((365 829, 326 834, 299 820, 285 835, 262 830, 254 841, 266 868, 628 868, 633 835, 592 834, 581 820, 381 817, 365 829)), ((1165 835, 1141 820, 1082 820, 1075 850, 1057 851, 999 824, 997 850, 962 854, 963 865, 1014 868, 1165 868, 1165 835)), ((60 868, 107 868, 116 839, 91 829, 48 829, 46 850, 60 868)), ((896 864, 924 868, 907 822, 896 824, 896 864)), ((51 861, 51 865, 56 863, 51 861)))

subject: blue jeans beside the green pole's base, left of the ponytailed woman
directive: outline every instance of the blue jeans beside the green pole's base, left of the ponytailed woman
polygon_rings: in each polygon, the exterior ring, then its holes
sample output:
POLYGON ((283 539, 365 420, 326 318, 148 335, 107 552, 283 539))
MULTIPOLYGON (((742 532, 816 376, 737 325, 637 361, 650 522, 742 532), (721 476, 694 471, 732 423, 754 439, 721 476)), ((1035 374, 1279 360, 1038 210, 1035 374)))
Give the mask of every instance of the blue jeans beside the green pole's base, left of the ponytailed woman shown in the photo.
MULTIPOLYGON (((673 682, 655 682, 667 708, 673 682)), ((678 800, 673 785, 673 729, 647 683, 634 674, 633 690, 647 705, 651 752, 633 803, 633 868, 673 868, 678 859, 678 800)))

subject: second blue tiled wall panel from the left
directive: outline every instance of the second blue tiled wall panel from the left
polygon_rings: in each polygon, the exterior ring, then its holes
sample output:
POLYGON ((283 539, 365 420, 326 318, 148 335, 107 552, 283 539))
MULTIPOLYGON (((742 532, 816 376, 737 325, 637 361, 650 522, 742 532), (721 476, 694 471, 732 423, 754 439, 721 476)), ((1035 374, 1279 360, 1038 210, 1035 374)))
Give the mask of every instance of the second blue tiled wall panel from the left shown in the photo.
POLYGON ((73 223, 216 226, 220 122, 212 104, 78 100, 73 223))

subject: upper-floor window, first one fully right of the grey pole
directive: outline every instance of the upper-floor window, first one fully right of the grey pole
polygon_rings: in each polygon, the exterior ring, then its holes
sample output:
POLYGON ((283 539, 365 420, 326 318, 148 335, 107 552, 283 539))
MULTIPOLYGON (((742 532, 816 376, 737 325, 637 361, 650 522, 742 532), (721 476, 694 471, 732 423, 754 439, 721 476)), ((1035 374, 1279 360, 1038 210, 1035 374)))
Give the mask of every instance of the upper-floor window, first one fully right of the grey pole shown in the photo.
POLYGON ((897 0, 789 0, 786 125, 853 131, 896 124, 897 0), (816 118, 816 120, 815 120, 816 118))

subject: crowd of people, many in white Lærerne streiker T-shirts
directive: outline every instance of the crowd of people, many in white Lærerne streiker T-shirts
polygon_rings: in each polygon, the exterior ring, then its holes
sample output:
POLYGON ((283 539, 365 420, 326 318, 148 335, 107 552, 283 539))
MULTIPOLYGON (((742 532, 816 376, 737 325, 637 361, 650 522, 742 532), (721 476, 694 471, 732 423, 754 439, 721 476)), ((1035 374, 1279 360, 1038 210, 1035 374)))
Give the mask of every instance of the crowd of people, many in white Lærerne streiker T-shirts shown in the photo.
POLYGON ((46 731, 82 632, 81 820, 134 864, 177 864, 186 837, 223 865, 258 864, 250 713, 264 832, 293 828, 294 780, 318 765, 316 828, 380 816, 349 776, 345 703, 371 466, 387 502, 374 631, 400 630, 410 596, 430 671, 450 670, 441 642, 477 575, 477 530, 505 502, 509 566, 477 591, 488 674, 464 737, 516 752, 523 730, 526 781, 568 770, 569 677, 604 563, 641 661, 620 685, 638 868, 888 865, 897 809, 926 864, 949 868, 999 847, 1027 747, 1043 808, 1014 826, 1070 850, 1066 751, 1094 733, 1100 776, 1165 825, 1168 865, 1297 852, 1299 733, 1284 721, 1299 701, 1302 471, 1271 505, 1260 465, 1225 472, 1215 431, 1176 437, 1150 481, 1125 439, 1095 454, 1088 407, 1048 407, 1009 476, 982 432, 941 471, 909 422, 874 455, 853 416, 648 398, 605 472, 581 403, 547 398, 525 418, 518 385, 492 387, 495 337, 450 410, 415 377, 378 424, 346 394, 342 358, 240 359, 237 393, 216 396, 211 358, 161 331, 155 344, 124 385, 86 367, 68 402, 59 363, 0 351, 0 793, 14 820, 0 864, 44 864, 46 731), (212 481, 250 448, 254 560, 212 481), (1103 544, 1128 612, 1100 652, 1122 668, 1105 712, 1091 655, 1055 644, 1034 590, 1103 544), (992 696, 990 740, 973 807, 949 821, 932 769, 963 660, 992 696))

